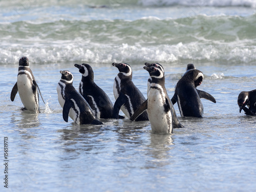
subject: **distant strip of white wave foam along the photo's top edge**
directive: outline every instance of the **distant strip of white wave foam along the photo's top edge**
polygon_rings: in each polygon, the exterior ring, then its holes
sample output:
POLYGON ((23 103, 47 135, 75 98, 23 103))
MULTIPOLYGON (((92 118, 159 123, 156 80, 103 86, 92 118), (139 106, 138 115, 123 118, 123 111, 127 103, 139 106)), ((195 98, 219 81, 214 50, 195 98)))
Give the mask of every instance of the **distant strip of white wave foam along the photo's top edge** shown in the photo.
POLYGON ((119 6, 194 6, 194 7, 256 7, 256 2, 254 0, 47 0, 47 1, 39 1, 39 0, 29 0, 20 2, 19 0, 13 1, 0 1, 0 6, 3 8, 6 7, 19 7, 18 11, 23 10, 22 7, 49 7, 49 6, 89 6, 91 8, 115 8, 119 6))

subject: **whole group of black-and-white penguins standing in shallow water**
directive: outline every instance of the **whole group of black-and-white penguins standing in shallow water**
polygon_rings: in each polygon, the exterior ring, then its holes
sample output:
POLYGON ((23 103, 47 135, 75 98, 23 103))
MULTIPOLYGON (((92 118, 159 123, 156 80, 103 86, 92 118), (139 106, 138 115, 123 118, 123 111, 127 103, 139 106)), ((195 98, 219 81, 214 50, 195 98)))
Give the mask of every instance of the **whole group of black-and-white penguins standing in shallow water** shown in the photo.
MULTIPOLYGON (((90 65, 83 63, 74 66, 82 75, 79 93, 73 87, 73 74, 70 71, 60 71, 61 79, 57 84, 58 101, 63 109, 63 120, 66 122, 71 117, 76 124, 102 124, 98 119, 125 118, 119 115, 121 109, 132 121, 149 120, 154 133, 173 133, 174 128, 183 127, 174 110, 173 105, 176 102, 182 117, 203 117, 200 98, 216 103, 209 93, 197 89, 204 75, 191 63, 177 82, 172 99, 165 89, 164 68, 159 63, 146 62, 143 67, 150 75, 147 80, 147 99, 132 81, 131 66, 127 63, 112 63, 112 66, 119 70, 113 86, 116 99, 114 105, 109 96, 94 82, 90 65)), ((17 82, 11 91, 11 101, 14 101, 17 92, 24 104, 23 110, 40 112, 41 93, 29 67, 29 59, 25 56, 19 59, 17 82)), ((241 92, 238 105, 240 113, 244 110, 246 115, 255 116, 256 90, 241 92)))

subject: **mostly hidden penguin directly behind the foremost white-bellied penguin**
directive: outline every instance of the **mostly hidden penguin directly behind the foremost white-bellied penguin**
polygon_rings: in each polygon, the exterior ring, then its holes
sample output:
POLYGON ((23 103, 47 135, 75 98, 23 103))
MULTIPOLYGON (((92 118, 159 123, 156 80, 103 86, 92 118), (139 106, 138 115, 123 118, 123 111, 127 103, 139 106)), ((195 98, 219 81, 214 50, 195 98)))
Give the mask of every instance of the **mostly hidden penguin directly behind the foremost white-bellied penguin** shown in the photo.
MULTIPOLYGON (((164 75, 164 68, 161 64, 155 62, 155 63, 148 63, 148 62, 145 62, 145 66, 147 67, 156 67, 158 69, 160 69, 162 72, 163 72, 163 75, 164 75)), ((163 77, 164 78, 164 77, 163 77)), ((150 84, 152 83, 152 77, 150 76, 147 80, 147 97, 148 97, 148 91, 150 91, 150 84)), ((168 100, 169 100, 169 96, 168 96, 168 100)), ((184 127, 178 117, 177 117, 177 114, 175 112, 175 109, 174 109, 174 106, 172 104, 172 102, 169 102, 170 103, 170 107, 172 108, 172 112, 173 112, 173 118, 174 118, 174 128, 180 128, 180 127, 184 127)))

